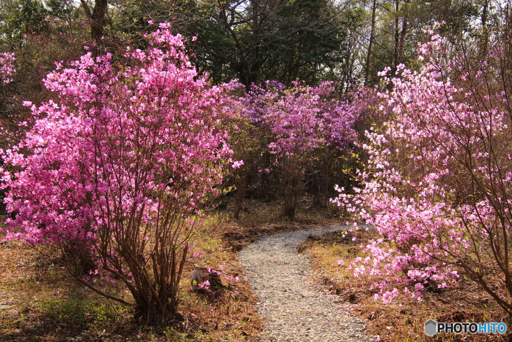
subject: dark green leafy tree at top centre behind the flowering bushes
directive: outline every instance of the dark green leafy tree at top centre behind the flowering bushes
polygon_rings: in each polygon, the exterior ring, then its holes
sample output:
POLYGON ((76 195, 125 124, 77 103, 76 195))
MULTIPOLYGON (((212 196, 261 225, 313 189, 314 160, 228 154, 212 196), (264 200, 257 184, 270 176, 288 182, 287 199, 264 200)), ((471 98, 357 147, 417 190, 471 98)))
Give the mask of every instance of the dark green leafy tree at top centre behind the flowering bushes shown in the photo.
POLYGON ((328 0, 206 1, 194 15, 198 65, 217 82, 317 83, 344 61, 347 30, 328 0))

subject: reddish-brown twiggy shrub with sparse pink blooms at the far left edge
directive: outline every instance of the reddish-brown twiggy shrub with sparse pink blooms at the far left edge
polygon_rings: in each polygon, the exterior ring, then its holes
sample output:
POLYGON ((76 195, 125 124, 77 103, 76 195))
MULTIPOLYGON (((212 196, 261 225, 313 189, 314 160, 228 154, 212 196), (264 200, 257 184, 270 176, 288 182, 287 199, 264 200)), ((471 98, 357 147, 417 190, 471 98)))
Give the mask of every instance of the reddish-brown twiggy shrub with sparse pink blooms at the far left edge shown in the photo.
MULTIPOLYGON (((42 85, 41 79, 54 70, 54 62, 68 63, 83 54, 83 46, 90 42, 87 38, 90 35, 84 36, 84 27, 78 22, 47 15, 38 22, 37 28, 29 25, 22 32, 15 30, 4 41, 10 52, 0 54, 0 83, 9 81, 9 84, 0 93, 0 148, 17 145, 33 124, 35 117, 29 108, 21 105, 22 101, 38 104, 49 99, 50 91, 42 85)), ((4 212, 3 208, 0 210, 4 212)))

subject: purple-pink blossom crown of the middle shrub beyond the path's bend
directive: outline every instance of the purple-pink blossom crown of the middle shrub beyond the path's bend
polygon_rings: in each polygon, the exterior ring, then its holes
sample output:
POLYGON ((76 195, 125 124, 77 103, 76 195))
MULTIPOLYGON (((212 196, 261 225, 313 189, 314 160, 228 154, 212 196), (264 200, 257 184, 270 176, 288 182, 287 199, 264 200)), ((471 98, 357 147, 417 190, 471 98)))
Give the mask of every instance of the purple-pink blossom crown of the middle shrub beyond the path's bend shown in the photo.
POLYGON ((365 104, 330 99, 330 83, 307 87, 295 83, 286 89, 267 81, 265 89, 253 85, 239 102, 244 114, 271 134, 268 144, 279 160, 304 158, 318 148, 333 146, 345 149, 357 136, 353 126, 361 119, 365 104), (357 105, 356 105, 357 103, 357 105))

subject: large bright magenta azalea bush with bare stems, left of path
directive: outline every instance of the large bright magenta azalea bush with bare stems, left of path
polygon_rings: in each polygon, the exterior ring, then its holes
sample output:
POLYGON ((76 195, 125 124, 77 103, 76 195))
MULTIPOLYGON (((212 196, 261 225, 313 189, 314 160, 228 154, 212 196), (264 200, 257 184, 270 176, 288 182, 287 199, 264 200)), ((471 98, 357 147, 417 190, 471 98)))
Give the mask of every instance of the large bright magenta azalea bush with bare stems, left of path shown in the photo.
POLYGON ((57 63, 44 81, 54 99, 24 103, 37 119, 3 151, 2 187, 7 239, 60 249, 84 285, 130 304, 91 280, 115 276, 137 317, 163 323, 179 316, 187 241, 231 151, 222 87, 198 76, 168 24, 146 38, 145 51, 57 63), (87 258, 96 270, 84 278, 87 258))

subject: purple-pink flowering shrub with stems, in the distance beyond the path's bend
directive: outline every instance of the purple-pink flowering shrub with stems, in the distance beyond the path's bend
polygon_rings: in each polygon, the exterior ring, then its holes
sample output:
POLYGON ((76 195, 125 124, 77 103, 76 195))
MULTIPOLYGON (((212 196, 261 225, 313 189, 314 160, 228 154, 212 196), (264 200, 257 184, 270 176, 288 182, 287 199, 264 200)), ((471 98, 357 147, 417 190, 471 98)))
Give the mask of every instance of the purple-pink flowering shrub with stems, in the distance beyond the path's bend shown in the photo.
POLYGON ((267 81, 265 86, 253 85, 237 106, 262 132, 261 142, 272 165, 260 167, 259 172, 279 173, 283 213, 293 217, 305 174, 311 171, 308 167, 325 162, 325 151, 332 154, 351 146, 357 138, 354 125, 368 105, 333 99, 330 83, 307 87, 297 82, 286 89, 267 81))

